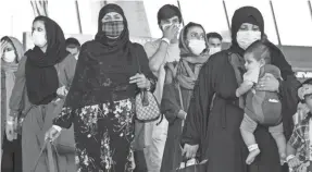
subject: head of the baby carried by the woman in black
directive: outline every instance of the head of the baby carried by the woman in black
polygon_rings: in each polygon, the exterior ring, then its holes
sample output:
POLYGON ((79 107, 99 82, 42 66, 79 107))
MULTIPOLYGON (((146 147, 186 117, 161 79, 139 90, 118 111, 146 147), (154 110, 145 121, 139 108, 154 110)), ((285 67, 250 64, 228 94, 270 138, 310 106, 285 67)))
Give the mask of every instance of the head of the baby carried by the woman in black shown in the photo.
POLYGON ((244 59, 247 71, 261 67, 271 63, 270 49, 262 40, 257 40, 246 49, 244 59))

